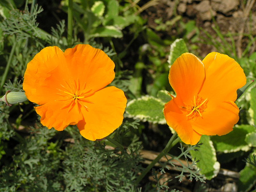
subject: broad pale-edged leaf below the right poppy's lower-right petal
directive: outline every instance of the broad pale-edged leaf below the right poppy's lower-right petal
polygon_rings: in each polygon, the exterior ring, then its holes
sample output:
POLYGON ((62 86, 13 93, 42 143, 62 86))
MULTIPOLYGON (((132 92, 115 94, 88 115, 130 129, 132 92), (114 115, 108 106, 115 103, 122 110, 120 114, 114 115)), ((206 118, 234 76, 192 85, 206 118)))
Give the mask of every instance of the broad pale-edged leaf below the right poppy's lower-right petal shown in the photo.
POLYGON ((212 136, 211 140, 217 151, 224 153, 236 152, 239 150, 248 151, 250 147, 245 141, 248 133, 255 132, 256 128, 252 125, 238 125, 227 135, 212 136))

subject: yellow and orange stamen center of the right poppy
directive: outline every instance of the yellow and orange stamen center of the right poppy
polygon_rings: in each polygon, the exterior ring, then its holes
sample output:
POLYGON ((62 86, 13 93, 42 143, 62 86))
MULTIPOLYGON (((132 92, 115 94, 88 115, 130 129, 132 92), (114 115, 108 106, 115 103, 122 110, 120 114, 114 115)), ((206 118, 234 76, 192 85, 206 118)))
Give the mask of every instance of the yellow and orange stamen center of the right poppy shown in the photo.
POLYGON ((199 95, 194 96, 194 101, 192 101, 192 105, 189 105, 187 108, 187 119, 195 119, 197 116, 202 117, 202 112, 204 112, 204 109, 207 107, 206 106, 206 101, 207 98, 204 100, 202 97, 199 95))

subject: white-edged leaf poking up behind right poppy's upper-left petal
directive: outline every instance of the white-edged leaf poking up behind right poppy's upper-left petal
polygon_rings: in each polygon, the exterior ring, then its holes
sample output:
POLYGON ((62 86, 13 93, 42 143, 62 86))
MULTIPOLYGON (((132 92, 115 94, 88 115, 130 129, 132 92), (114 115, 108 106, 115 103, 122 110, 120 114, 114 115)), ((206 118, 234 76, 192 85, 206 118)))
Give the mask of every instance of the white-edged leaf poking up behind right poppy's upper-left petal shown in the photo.
POLYGON ((176 39, 172 44, 170 48, 170 54, 168 58, 168 63, 170 66, 173 64, 173 62, 180 57, 182 53, 188 52, 187 45, 185 44, 185 41, 183 39, 176 39))

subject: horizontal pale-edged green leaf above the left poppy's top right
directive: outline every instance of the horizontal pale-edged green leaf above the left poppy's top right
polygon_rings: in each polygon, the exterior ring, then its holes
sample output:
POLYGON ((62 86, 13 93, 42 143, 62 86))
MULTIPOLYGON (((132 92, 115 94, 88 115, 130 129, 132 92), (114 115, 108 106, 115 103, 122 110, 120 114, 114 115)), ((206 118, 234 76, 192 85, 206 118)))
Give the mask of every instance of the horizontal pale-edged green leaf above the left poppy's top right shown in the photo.
POLYGON ((90 34, 90 37, 115 37, 115 38, 121 38, 123 37, 122 31, 117 29, 114 26, 105 26, 105 27, 99 27, 92 30, 92 33, 90 34))

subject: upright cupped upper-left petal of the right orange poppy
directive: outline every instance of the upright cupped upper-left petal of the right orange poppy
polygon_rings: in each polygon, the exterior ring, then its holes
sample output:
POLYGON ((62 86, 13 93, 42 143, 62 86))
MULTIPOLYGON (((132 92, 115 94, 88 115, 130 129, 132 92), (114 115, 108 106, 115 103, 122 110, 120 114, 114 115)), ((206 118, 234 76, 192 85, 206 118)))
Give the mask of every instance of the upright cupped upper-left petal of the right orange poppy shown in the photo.
POLYGON ((204 64, 192 53, 183 53, 174 61, 169 73, 172 88, 185 104, 190 103, 191 98, 197 95, 204 78, 204 64))

